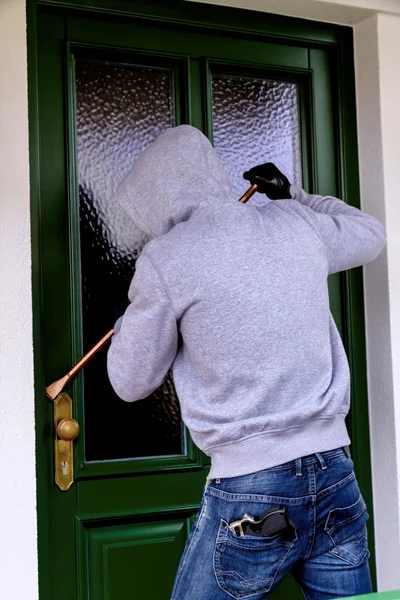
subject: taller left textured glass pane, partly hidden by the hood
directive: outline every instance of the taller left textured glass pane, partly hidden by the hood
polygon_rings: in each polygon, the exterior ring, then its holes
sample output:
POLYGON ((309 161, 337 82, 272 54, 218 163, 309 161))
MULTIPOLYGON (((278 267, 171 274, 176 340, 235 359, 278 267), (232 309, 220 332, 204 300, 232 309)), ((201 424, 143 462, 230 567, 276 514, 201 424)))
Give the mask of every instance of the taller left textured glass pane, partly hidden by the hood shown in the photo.
MULTIPOLYGON (((175 124, 169 69, 76 61, 83 345, 87 351, 127 306, 146 238, 115 202, 138 154, 175 124)), ((129 404, 113 392, 101 351, 84 369, 86 460, 184 453, 169 376, 152 396, 129 404)))

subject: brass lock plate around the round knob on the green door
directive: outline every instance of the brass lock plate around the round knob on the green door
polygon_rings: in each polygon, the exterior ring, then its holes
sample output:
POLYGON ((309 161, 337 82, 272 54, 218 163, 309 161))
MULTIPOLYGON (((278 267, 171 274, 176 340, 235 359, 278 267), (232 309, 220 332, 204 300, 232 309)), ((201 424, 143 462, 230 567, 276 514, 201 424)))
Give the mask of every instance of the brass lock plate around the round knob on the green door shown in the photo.
MULTIPOLYGON (((61 393, 54 400, 54 471, 55 483, 63 492, 67 491, 74 482, 74 441, 61 439, 58 433, 59 425, 65 420, 72 419, 72 400, 66 393, 61 393)), ((76 423, 76 421, 73 421, 76 423)), ((76 424, 77 425, 77 424, 76 424)), ((77 433, 79 426, 77 425, 77 433)), ((75 436, 76 437, 76 436, 75 436)))

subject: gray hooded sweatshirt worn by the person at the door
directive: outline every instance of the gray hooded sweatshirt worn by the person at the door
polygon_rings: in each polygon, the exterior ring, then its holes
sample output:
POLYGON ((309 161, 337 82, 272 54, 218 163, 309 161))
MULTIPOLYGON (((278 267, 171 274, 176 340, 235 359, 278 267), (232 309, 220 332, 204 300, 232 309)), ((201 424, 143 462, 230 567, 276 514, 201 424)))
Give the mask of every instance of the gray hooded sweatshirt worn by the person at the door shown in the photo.
MULTIPOLYGON (((243 170, 253 165, 243 165, 243 170)), ((349 367, 327 278, 373 260, 373 217, 291 187, 243 205, 207 138, 182 125, 137 159, 118 201, 153 239, 116 324, 108 374, 128 402, 173 376, 209 478, 350 443, 349 367)))

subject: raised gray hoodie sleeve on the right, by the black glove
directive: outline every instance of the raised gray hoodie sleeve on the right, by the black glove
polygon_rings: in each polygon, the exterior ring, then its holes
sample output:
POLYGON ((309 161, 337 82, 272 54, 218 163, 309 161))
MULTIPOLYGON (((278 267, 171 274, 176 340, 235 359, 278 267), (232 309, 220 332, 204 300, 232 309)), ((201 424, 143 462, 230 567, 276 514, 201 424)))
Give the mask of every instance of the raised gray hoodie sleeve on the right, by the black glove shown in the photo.
POLYGON ((314 213, 311 224, 326 246, 329 274, 369 263, 383 249, 385 230, 374 217, 332 196, 307 194, 294 185, 290 191, 314 213))

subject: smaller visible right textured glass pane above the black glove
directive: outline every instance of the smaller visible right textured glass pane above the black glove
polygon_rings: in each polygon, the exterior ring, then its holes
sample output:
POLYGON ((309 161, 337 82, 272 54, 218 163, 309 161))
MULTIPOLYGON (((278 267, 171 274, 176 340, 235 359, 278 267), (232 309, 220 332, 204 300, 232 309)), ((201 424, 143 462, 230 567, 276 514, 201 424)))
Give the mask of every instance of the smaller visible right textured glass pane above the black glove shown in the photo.
POLYGON ((243 172, 264 162, 301 185, 297 84, 214 73, 212 100, 214 147, 235 197, 249 186, 243 172))

